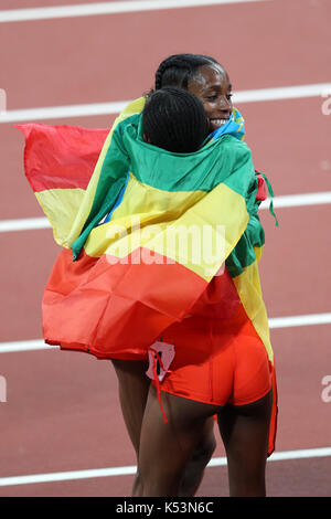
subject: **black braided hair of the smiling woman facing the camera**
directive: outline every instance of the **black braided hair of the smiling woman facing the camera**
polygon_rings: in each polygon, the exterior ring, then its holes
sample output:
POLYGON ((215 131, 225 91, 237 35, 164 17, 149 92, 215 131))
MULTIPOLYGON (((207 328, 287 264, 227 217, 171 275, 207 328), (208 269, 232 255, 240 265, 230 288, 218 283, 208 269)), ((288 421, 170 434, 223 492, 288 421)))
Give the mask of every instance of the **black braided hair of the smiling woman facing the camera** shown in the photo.
POLYGON ((188 88, 189 81, 194 77, 197 68, 203 65, 220 63, 204 54, 173 54, 163 60, 156 72, 154 89, 163 86, 188 88))

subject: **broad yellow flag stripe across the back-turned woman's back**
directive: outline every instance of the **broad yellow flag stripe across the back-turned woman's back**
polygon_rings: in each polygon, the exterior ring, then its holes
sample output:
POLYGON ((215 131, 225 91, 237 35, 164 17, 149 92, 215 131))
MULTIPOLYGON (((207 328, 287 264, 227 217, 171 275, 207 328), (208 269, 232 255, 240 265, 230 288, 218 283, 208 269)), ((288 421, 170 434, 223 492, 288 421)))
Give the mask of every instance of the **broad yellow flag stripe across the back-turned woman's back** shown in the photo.
POLYGON ((122 260, 145 247, 142 262, 152 263, 149 252, 154 252, 158 260, 180 263, 210 282, 247 223, 244 198, 223 183, 209 193, 168 192, 130 176, 111 221, 95 227, 84 248, 88 256, 122 260))

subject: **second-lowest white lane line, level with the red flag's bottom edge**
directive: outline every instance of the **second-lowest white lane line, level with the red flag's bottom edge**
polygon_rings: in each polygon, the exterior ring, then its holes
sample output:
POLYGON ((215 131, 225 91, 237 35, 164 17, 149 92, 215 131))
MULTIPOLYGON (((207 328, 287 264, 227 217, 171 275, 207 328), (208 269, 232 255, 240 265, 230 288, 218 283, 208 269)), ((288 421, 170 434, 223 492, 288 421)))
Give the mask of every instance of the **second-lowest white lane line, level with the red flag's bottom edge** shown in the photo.
MULTIPOLYGON (((298 326, 331 325, 331 313, 308 314, 303 316, 271 317, 269 328, 292 328, 298 326)), ((12 342, 0 342, 0 353, 14 353, 18 351, 35 351, 58 349, 58 346, 45 345, 43 339, 19 340, 12 342)))

